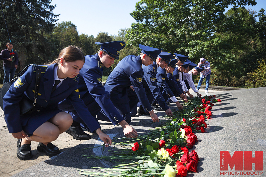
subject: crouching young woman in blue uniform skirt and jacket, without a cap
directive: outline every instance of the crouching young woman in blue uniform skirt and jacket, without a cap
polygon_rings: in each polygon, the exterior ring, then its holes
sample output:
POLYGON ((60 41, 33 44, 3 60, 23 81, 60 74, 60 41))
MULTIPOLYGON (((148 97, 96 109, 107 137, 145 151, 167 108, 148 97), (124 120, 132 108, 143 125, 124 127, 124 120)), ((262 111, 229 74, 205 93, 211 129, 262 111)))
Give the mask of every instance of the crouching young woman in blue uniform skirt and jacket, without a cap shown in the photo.
POLYGON ((81 49, 75 46, 64 48, 59 58, 48 65, 39 65, 41 70, 40 86, 36 110, 27 115, 20 115, 19 102, 23 96, 33 101, 36 71, 29 67, 9 88, 3 98, 5 121, 9 133, 18 138, 17 156, 21 160, 32 158, 31 141, 39 142, 37 150, 44 151, 48 156, 60 153, 51 143, 59 134, 66 131, 72 124, 70 114, 58 109, 58 103, 69 99, 80 117, 90 122, 92 129, 98 129, 99 137, 108 145, 111 139, 100 131, 98 123, 92 118, 83 101, 79 98, 77 88, 79 70, 84 64, 81 49), (59 80, 59 81, 56 81, 59 80), (59 83, 57 86, 55 83, 59 83), (55 85, 55 86, 54 86, 55 85), (52 88, 55 90, 52 92, 52 88), (106 141, 108 140, 108 142, 106 141))

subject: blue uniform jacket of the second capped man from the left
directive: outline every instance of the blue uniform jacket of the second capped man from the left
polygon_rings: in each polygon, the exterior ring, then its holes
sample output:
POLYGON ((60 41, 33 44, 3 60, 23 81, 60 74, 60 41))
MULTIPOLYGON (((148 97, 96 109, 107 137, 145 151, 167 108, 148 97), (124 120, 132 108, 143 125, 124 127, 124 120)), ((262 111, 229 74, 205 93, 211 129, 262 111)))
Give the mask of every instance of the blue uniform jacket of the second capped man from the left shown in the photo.
POLYGON ((147 111, 153 110, 142 85, 143 74, 140 55, 128 55, 119 61, 104 85, 105 90, 110 93, 111 101, 118 104, 128 103, 128 89, 132 85, 143 108, 147 111))

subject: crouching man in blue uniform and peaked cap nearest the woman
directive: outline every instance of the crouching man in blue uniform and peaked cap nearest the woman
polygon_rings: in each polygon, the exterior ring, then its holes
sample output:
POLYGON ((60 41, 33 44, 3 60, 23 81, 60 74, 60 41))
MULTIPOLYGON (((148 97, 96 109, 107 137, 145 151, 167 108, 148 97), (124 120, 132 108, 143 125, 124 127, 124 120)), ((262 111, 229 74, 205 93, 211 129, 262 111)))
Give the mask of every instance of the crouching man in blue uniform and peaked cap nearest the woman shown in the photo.
MULTIPOLYGON (((96 42, 95 44, 101 45, 100 50, 95 55, 85 56, 85 64, 78 75, 80 98, 84 101, 87 109, 96 121, 96 115, 102 109, 108 117, 107 121, 111 121, 113 125, 120 124, 126 137, 136 138, 137 131, 127 124, 116 110, 110 99, 110 94, 105 91, 102 84, 103 67, 109 68, 115 59, 119 59, 119 52, 126 46, 126 43, 124 41, 112 41, 104 43, 96 42)), ((69 100, 61 101, 59 109, 69 111, 69 114, 74 119, 72 125, 66 131, 69 135, 72 135, 77 140, 89 140, 91 138, 80 127, 82 126, 88 130, 89 125, 86 125, 80 119, 69 100)))

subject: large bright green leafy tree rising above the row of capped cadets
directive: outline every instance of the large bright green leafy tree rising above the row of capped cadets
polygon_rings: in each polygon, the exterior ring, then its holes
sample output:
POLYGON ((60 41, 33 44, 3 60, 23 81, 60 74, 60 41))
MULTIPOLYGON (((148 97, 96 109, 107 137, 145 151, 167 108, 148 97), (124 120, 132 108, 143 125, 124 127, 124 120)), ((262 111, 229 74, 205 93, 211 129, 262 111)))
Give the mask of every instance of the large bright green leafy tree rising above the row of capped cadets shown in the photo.
POLYGON ((194 63, 204 57, 212 65, 211 81, 221 81, 217 76, 222 74, 225 81, 220 85, 228 85, 238 63, 231 46, 220 39, 231 25, 223 12, 229 5, 237 9, 255 4, 255 0, 142 0, 131 13, 137 23, 127 32, 128 42, 188 55, 194 63))

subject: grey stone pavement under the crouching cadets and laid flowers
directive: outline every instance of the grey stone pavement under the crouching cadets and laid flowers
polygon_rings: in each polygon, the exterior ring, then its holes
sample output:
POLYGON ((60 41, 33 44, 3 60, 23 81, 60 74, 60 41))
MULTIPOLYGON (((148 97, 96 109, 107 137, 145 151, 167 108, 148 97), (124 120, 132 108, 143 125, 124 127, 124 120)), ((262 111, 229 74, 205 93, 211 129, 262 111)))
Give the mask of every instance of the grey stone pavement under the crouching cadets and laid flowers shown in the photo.
MULTIPOLYGON (((190 93, 194 94, 193 91, 190 93)), ((205 95, 204 90, 200 90, 205 95)), ((231 156, 236 150, 252 150, 254 157, 255 150, 266 149, 266 87, 255 89, 242 89, 235 91, 210 91, 208 95, 216 95, 222 102, 215 103, 211 110, 212 119, 207 119, 207 131, 196 133, 199 143, 194 146, 194 150, 200 157, 198 164, 199 173, 189 173, 188 176, 220 176, 220 151, 228 150, 231 156)), ((170 108, 176 109, 174 104, 170 108)), ((0 112, 0 116, 3 112, 0 112)), ((159 116, 165 112, 156 112, 159 116)), ((157 127, 160 123, 151 123, 150 117, 132 117, 132 127, 138 134, 149 132, 150 128, 157 127)), ((16 157, 17 140, 8 133, 7 127, 3 124, 4 117, 0 117, 0 176, 80 176, 77 169, 86 171, 96 171, 91 167, 112 167, 112 163, 105 160, 88 159, 82 155, 110 155, 101 148, 82 150, 82 148, 101 145, 97 135, 93 135, 91 140, 75 140, 67 133, 62 133, 53 142, 57 145, 61 154, 49 159, 45 153, 36 150, 37 142, 31 145, 33 159, 22 161, 16 157)), ((162 119, 162 118, 161 118, 162 119)), ((113 126, 109 122, 100 122, 102 130, 110 137, 124 137, 119 126, 113 126)), ((112 148, 108 148, 112 149, 112 148)), ((264 164, 265 163, 264 154, 264 164)), ((254 171, 254 163, 252 165, 254 171)), ((265 165, 264 165, 265 169, 265 165)), ((233 168, 234 170, 234 168, 233 168)), ((229 175, 231 176, 231 175, 229 175)), ((252 176, 252 175, 236 175, 252 176)), ((253 175, 265 176, 265 175, 253 175)))

